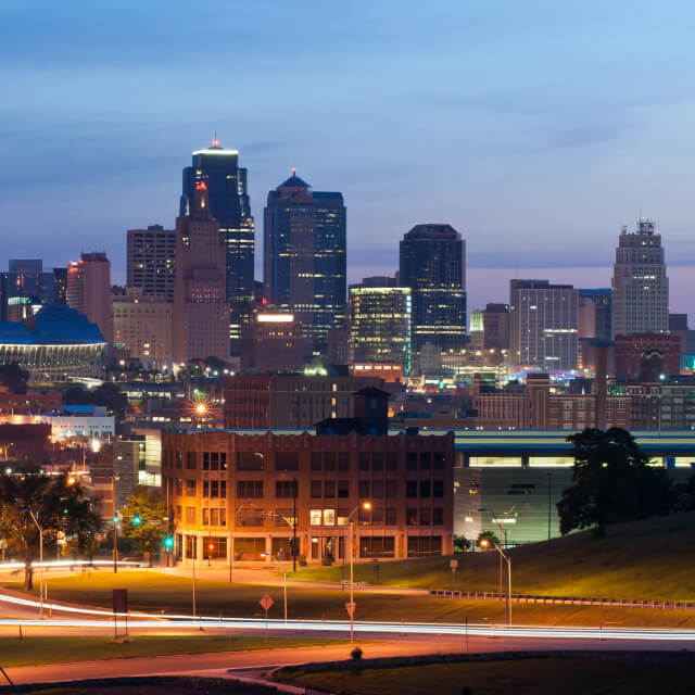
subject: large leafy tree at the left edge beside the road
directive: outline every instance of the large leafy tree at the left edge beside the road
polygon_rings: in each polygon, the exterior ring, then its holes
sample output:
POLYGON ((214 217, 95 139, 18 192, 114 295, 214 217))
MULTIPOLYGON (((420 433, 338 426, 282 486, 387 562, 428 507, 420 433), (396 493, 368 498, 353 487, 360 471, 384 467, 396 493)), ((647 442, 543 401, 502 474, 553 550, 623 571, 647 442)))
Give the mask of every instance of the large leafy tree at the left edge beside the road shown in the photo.
POLYGON ((0 535, 12 555, 24 559, 24 586, 31 589, 31 560, 39 555, 39 530, 43 551, 55 547, 59 533, 87 547, 101 529, 96 500, 87 496, 79 480, 64 471, 58 477, 38 470, 0 476, 0 535))

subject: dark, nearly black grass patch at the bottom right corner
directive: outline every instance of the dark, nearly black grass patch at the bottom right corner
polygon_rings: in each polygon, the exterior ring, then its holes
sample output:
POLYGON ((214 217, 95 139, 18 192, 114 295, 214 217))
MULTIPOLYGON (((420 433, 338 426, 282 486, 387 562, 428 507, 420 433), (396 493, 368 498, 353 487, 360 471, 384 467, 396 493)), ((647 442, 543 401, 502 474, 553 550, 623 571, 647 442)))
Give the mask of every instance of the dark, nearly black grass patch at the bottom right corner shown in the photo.
POLYGON ((692 665, 628 664, 601 658, 548 658, 349 669, 313 673, 279 671, 278 680, 331 693, 359 695, 653 695, 692 692, 692 665))

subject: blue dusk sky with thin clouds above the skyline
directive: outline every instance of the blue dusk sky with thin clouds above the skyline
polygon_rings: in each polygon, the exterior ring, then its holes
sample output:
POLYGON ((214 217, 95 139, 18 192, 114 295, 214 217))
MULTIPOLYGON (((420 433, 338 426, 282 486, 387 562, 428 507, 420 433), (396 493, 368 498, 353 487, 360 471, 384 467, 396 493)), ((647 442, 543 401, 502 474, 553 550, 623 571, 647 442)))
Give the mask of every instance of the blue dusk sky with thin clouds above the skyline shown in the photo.
POLYGON ((263 206, 295 166, 348 206, 349 280, 418 223, 467 242, 470 308, 508 279, 610 285, 620 226, 659 222, 672 311, 695 268, 695 3, 0 2, 0 267, 173 227, 213 136, 263 206))

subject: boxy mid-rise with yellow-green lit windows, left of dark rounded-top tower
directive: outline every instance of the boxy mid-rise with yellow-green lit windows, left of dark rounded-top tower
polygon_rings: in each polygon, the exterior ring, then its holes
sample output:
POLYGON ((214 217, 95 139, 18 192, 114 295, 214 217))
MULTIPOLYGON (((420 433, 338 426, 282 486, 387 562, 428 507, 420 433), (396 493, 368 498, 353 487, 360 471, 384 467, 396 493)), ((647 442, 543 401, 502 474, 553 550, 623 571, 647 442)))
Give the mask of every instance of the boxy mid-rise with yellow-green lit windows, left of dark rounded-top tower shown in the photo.
POLYGON ((410 288, 350 290, 352 362, 400 362, 410 371, 410 288))

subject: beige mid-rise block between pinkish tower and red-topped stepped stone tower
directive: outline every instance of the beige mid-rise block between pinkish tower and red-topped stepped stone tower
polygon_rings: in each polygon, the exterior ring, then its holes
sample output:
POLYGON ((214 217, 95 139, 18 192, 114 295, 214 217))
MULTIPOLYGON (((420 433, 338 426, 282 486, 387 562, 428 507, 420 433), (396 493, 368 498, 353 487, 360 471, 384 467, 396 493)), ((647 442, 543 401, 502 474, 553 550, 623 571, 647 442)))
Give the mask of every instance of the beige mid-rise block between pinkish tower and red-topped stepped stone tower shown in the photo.
POLYGON ((146 365, 162 368, 172 361, 172 308, 164 298, 139 287, 113 295, 113 342, 146 365))

